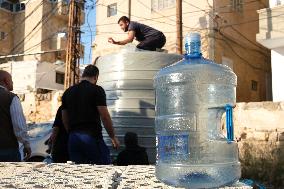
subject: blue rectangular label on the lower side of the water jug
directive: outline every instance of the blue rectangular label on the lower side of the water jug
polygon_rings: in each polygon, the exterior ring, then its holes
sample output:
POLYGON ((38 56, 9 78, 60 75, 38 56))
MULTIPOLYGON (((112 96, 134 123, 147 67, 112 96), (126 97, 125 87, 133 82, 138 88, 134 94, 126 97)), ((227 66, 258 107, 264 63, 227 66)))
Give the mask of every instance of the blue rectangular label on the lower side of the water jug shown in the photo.
MULTIPOLYGON (((184 157, 188 155, 189 136, 158 135, 158 153, 160 160, 184 157)), ((179 159, 179 158, 178 158, 179 159)))

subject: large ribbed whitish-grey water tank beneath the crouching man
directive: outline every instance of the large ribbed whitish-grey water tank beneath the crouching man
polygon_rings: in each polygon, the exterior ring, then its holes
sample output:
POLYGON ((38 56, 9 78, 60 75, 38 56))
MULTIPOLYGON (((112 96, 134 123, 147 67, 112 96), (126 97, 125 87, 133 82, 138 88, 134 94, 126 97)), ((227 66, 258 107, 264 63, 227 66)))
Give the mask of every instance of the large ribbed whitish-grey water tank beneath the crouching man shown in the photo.
MULTIPOLYGON (((147 149, 149 162, 156 161, 155 92, 153 77, 182 56, 163 52, 141 51, 126 46, 120 52, 102 56, 96 66, 100 70, 98 85, 107 95, 108 109, 123 149, 126 132, 138 135, 139 145, 147 149)), ((106 132, 104 138, 111 148, 106 132)), ((111 151, 115 155, 116 151, 111 151)))

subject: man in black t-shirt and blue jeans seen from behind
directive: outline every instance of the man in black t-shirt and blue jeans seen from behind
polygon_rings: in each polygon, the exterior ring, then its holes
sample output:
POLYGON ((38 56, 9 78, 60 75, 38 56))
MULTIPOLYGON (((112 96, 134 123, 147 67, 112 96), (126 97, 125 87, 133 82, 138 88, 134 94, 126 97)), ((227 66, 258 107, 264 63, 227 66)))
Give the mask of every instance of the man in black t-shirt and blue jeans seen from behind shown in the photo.
POLYGON ((82 81, 68 88, 62 96, 62 119, 69 132, 69 156, 75 163, 111 163, 110 152, 102 136, 101 120, 113 147, 119 147, 107 109, 105 91, 96 85, 98 76, 96 66, 87 66, 82 81))

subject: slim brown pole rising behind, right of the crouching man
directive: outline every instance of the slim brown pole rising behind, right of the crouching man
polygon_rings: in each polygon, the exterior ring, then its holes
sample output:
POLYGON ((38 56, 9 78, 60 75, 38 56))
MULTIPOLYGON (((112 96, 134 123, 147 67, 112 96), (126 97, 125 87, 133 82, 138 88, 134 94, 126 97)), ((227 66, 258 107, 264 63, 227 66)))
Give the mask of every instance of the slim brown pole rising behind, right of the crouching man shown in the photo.
POLYGON ((176 0, 177 53, 182 54, 182 0, 176 0))

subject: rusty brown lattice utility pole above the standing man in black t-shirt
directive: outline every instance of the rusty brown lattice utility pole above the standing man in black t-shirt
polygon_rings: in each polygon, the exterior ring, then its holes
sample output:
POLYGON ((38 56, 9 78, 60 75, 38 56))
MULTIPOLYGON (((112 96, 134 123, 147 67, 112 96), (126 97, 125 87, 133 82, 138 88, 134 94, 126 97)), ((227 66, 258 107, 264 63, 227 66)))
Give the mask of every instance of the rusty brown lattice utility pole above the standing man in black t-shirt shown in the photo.
POLYGON ((64 88, 79 82, 80 54, 81 54, 81 11, 84 8, 83 0, 70 0, 68 39, 66 50, 65 82, 64 88))

